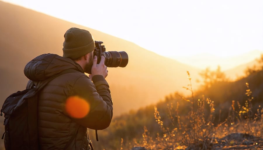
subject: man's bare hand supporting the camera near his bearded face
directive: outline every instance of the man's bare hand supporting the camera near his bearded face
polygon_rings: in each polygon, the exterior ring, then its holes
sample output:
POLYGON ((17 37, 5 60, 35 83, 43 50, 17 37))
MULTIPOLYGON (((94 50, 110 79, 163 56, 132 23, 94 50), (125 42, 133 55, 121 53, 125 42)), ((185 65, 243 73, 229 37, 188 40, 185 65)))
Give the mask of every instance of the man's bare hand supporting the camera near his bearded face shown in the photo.
POLYGON ((104 78, 108 76, 107 66, 105 66, 104 64, 105 57, 101 56, 101 62, 99 64, 97 64, 97 60, 98 60, 97 56, 94 56, 93 65, 91 67, 91 74, 89 75, 89 79, 91 79, 91 81, 92 81, 92 76, 95 75, 102 75, 104 78))

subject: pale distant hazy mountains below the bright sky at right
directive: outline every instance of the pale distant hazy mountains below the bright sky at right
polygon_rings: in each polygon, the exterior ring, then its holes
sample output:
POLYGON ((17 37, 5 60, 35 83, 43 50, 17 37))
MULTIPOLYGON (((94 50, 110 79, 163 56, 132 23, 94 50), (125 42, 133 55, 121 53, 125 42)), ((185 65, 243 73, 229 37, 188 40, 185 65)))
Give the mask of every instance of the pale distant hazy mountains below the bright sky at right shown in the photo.
MULTIPOLYGON (((211 70, 216 70, 217 66, 221 67, 221 70, 226 74, 226 77, 231 81, 245 76, 245 70, 248 67, 258 65, 257 59, 263 54, 260 50, 253 50, 237 56, 220 57, 208 53, 188 56, 188 57, 176 57, 174 59, 179 62, 189 64, 199 69, 206 69, 209 67, 211 70)), ((171 57, 172 58, 172 57, 171 57)))

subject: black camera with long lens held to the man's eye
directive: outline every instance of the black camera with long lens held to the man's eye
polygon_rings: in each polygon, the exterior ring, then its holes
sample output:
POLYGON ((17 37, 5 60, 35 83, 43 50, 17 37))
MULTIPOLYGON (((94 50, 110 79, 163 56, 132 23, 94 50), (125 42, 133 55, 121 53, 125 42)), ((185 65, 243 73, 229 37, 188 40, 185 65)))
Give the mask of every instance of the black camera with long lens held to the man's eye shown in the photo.
POLYGON ((108 51, 102 41, 95 41, 94 56, 98 57, 97 64, 101 61, 101 56, 105 57, 105 66, 107 67, 126 67, 128 64, 128 54, 124 51, 108 51))

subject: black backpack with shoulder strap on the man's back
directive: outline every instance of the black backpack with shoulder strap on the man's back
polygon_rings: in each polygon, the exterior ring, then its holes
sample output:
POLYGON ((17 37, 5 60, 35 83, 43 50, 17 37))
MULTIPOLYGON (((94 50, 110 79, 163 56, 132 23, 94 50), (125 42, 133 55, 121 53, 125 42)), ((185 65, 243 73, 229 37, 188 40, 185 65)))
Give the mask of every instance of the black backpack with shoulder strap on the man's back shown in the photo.
MULTIPOLYGON (((49 79, 33 84, 30 88, 18 91, 6 98, 1 109, 4 113, 5 132, 2 136, 6 150, 40 149, 37 127, 38 93, 47 83, 61 74, 76 72, 65 70, 49 79), (38 87, 36 85, 39 85, 38 87)), ((66 144, 67 148, 72 139, 66 144)))

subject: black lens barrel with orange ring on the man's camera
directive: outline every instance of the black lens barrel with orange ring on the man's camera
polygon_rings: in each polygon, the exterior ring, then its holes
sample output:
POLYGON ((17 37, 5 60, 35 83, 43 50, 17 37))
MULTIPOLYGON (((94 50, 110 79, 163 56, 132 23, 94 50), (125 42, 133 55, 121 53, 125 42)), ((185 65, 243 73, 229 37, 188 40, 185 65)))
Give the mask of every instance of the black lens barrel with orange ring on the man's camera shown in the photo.
POLYGON ((128 64, 128 54, 124 51, 107 51, 103 52, 103 56, 107 67, 126 67, 128 64))

